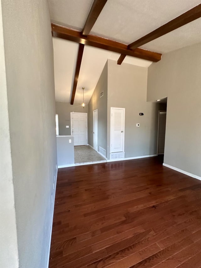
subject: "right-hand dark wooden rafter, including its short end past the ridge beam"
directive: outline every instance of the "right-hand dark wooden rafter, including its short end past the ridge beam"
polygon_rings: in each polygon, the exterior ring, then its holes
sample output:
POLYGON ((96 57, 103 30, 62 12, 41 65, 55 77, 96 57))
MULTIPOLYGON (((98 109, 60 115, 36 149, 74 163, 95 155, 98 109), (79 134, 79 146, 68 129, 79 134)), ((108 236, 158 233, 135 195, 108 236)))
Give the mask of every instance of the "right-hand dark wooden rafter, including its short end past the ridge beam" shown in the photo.
MULTIPOLYGON (((156 30, 150 32, 149 34, 141 37, 140 39, 134 41, 133 43, 128 45, 128 49, 136 49, 139 46, 149 43, 150 41, 159 38, 173 30, 176 30, 183 25, 186 25, 189 22, 192 22, 195 19, 199 19, 201 17, 201 4, 197 5, 196 7, 188 10, 187 12, 183 13, 182 15, 178 16, 175 19, 172 19, 168 23, 160 26, 156 30)), ((121 55, 118 59, 117 64, 121 64, 126 55, 121 55)))

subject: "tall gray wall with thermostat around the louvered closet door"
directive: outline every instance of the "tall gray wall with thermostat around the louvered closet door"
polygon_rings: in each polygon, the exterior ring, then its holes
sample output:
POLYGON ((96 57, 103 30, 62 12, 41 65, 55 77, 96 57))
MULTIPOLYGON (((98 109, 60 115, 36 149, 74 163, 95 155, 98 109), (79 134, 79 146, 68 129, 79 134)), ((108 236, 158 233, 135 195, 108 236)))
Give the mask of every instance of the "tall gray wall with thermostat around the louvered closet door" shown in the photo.
POLYGON ((146 101, 147 68, 108 60, 107 158, 110 159, 110 110, 125 108, 125 157, 156 154, 158 105, 146 101), (144 116, 139 116, 143 112, 144 116), (140 123, 140 127, 136 127, 140 123))

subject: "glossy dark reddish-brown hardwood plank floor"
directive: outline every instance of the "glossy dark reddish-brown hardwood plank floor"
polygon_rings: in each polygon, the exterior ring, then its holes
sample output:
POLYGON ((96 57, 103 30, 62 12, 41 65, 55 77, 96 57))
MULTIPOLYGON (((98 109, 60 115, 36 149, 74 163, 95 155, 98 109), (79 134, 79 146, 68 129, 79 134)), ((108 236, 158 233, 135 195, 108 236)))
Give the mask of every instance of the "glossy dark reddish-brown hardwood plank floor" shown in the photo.
POLYGON ((60 169, 49 267, 201 267, 201 181, 158 157, 60 169))

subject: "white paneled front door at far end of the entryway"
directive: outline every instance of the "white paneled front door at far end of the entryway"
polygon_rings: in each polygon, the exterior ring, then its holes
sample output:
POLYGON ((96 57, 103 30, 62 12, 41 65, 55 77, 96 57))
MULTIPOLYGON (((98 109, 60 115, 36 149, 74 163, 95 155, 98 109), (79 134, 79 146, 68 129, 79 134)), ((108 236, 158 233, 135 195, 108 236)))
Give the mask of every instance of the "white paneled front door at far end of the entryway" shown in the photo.
POLYGON ((86 113, 71 113, 72 135, 74 145, 87 145, 87 115, 86 113))

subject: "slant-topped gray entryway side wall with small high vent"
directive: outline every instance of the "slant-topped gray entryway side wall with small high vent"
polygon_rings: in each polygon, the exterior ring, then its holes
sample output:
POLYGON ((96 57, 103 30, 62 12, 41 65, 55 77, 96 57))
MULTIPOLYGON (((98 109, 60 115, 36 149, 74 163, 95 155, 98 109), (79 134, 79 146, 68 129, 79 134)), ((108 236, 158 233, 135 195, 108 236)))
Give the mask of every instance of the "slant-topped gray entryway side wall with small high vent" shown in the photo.
POLYGON ((93 111, 98 109, 98 150, 99 146, 106 150, 107 155, 107 62, 100 75, 94 93, 89 102, 89 139, 93 147, 93 111), (100 92, 104 95, 100 98, 100 92))

